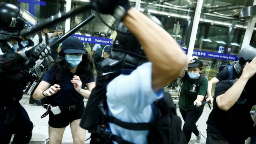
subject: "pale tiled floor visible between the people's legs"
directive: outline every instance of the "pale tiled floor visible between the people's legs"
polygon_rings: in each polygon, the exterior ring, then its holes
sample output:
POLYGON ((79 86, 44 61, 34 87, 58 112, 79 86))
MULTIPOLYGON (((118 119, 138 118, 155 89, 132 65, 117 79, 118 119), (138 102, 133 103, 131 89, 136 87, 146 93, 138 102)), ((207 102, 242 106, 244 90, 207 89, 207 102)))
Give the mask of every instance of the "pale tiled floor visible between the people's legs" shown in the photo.
MULTIPOLYGON (((20 103, 27 110, 27 113, 30 116, 31 121, 34 123, 33 136, 30 141, 30 144, 43 144, 43 142, 48 138, 48 119, 49 117, 44 117, 41 119, 41 115, 46 112, 46 110, 38 105, 31 105, 28 103, 29 96, 23 96, 20 103)), ((176 100, 177 101, 177 100, 176 100)), ((87 101, 85 101, 85 104, 87 101)), ((181 117, 179 109, 177 108, 178 115, 181 117)), ((206 120, 208 119, 208 115, 210 114, 210 109, 208 106, 204 108, 203 114, 197 122, 199 130, 201 130, 201 142, 196 142, 196 136, 192 134, 190 144, 205 144, 206 142, 206 120)), ((184 122, 183 122, 184 123, 184 122)), ((90 137, 89 133, 86 133, 86 139, 90 137)), ((66 128, 63 136, 63 144, 72 144, 72 136, 71 130, 69 126, 66 128)), ((89 141, 86 142, 86 144, 89 141)))

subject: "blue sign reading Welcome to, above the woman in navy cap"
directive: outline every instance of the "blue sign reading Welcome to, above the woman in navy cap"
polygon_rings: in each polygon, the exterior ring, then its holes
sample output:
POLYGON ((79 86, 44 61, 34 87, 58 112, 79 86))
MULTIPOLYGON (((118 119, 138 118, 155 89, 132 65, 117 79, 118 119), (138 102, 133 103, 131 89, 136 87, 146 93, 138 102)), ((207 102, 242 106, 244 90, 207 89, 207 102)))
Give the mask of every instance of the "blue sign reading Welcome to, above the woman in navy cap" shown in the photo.
POLYGON ((112 46, 113 44, 112 39, 107 39, 107 38, 89 37, 89 36, 84 36, 79 34, 72 34, 71 36, 77 37, 84 43, 98 43, 98 44, 110 45, 110 46, 112 46))

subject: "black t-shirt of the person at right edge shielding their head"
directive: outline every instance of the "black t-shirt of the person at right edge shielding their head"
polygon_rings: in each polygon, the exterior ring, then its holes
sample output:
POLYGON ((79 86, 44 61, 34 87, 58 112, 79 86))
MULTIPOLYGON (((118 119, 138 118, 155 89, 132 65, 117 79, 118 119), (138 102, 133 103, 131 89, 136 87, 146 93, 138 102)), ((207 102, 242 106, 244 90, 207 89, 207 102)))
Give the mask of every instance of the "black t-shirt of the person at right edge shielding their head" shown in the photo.
MULTIPOLYGON (((215 96, 224 94, 232 87, 233 82, 234 80, 223 80, 217 83, 215 96)), ((230 144, 245 141, 247 137, 250 137, 254 124, 249 113, 251 107, 256 104, 254 95, 242 92, 238 101, 226 112, 219 109, 216 98, 214 98, 213 110, 206 122, 207 132, 222 135, 230 144)))

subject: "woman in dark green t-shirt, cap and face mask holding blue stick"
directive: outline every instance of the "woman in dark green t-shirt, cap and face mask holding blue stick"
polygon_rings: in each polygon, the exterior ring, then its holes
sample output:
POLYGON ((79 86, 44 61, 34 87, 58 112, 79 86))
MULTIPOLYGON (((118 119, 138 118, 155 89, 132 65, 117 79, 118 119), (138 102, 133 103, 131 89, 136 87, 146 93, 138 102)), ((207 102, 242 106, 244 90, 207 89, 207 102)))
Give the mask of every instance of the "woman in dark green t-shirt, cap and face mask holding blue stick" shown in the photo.
POLYGON ((183 84, 181 86, 178 105, 182 118, 185 121, 182 131, 187 139, 187 143, 190 141, 192 133, 197 136, 197 142, 200 142, 201 140, 201 133, 197 129, 196 122, 203 113, 203 106, 200 106, 208 87, 208 80, 206 77, 203 78, 199 89, 196 87, 202 69, 203 62, 193 56, 189 61, 187 70, 184 70, 179 74, 183 84), (197 106, 195 107, 195 105, 197 106))

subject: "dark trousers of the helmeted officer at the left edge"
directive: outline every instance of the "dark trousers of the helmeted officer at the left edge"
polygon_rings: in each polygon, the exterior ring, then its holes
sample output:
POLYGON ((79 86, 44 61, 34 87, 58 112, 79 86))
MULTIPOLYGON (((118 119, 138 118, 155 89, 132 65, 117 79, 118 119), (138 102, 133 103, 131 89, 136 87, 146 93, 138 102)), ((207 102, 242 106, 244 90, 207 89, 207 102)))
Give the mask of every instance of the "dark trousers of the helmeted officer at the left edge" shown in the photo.
POLYGON ((0 106, 0 144, 9 144, 11 135, 14 139, 11 144, 28 144, 32 137, 33 123, 20 103, 15 103, 16 116, 9 124, 4 124, 6 111, 0 106))

